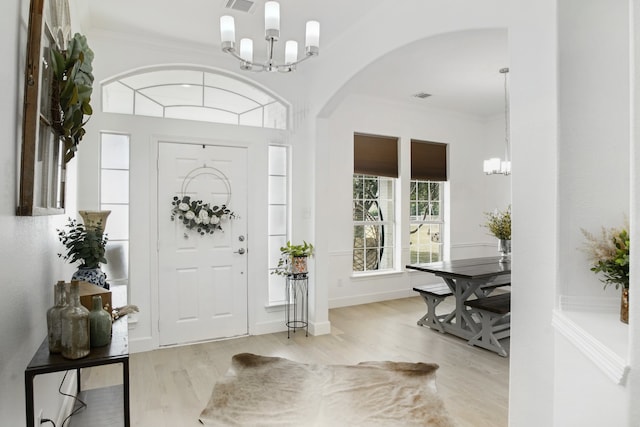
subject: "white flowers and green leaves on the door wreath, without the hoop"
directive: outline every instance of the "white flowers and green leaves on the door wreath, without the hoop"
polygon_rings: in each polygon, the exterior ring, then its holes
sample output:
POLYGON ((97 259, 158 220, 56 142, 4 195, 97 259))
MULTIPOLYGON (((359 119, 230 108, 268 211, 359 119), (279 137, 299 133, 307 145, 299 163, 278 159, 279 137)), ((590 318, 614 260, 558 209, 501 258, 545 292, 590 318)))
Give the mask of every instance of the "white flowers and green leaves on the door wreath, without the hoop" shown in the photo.
POLYGON ((215 230, 223 231, 221 222, 236 218, 226 205, 210 206, 202 200, 191 200, 190 196, 174 196, 171 204, 171 221, 177 217, 189 230, 195 229, 203 236, 213 234, 215 230))

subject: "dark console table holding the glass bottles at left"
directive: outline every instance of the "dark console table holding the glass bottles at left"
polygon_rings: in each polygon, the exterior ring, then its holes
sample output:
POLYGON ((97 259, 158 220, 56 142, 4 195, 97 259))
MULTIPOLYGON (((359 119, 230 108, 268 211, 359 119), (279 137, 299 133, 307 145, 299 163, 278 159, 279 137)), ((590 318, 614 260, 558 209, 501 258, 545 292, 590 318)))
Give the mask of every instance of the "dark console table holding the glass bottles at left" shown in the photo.
MULTIPOLYGON (((92 348, 91 353, 82 359, 70 360, 65 359, 61 354, 49 353, 49 342, 48 339, 45 338, 24 371, 27 427, 37 427, 35 426, 35 408, 33 405, 33 380, 36 375, 75 369, 77 371, 76 388, 78 394, 80 394, 82 391, 80 370, 82 368, 114 363, 122 364, 124 426, 129 427, 129 336, 126 319, 118 320, 113 324, 113 337, 109 345, 92 348)), ((96 390, 84 392, 85 398, 83 400, 87 403, 87 410, 90 410, 92 407, 91 394, 94 391, 96 390)), ((73 420, 71 420, 71 422, 73 422, 73 420)))

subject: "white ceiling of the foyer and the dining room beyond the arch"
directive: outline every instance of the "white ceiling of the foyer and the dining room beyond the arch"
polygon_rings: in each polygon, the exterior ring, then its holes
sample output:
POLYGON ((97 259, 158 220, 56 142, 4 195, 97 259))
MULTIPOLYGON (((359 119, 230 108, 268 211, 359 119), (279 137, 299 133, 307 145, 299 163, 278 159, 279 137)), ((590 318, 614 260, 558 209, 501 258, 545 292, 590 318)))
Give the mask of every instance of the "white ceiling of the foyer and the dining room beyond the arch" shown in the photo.
MULTIPOLYGON (((257 0, 248 13, 225 8, 228 1, 89 0, 83 2, 81 19, 85 31, 106 30, 219 50, 219 16, 229 14, 236 21, 236 39, 253 38, 258 56, 264 37, 264 0, 257 0)), ((280 0, 282 39, 302 43, 304 24, 313 19, 320 22, 320 49, 329 49, 372 9, 371 5, 371 0, 280 0)), ((322 55, 315 60, 322 60, 322 55)), ((302 66, 313 66, 313 62, 302 66)), ((449 33, 381 57, 344 90, 490 117, 504 111, 504 76, 499 69, 506 66, 506 30, 449 33), (432 96, 413 96, 420 92, 432 96)))

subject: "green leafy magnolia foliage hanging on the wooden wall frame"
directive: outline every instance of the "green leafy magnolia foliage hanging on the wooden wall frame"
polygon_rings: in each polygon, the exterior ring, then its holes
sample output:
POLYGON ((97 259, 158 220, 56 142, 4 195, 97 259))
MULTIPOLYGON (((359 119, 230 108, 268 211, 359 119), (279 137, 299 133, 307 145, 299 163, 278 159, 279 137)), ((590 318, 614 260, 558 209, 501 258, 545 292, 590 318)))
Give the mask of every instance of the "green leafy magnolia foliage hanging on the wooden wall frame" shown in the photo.
POLYGON ((51 50, 53 129, 64 141, 65 163, 74 157, 85 134, 84 125, 89 120, 85 120, 85 115, 93 114, 92 62, 93 51, 87 38, 78 33, 69 41, 67 50, 51 50))

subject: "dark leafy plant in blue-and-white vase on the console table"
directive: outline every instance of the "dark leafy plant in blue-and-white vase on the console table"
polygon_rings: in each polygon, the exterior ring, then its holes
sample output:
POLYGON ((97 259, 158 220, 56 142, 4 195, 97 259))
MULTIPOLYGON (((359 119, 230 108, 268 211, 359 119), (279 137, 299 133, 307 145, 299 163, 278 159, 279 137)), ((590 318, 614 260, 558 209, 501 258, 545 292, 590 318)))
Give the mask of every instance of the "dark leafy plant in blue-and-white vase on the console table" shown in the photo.
POLYGON ((66 252, 58 256, 72 264, 81 263, 72 280, 89 282, 109 289, 107 275, 100 269, 100 264, 107 263, 105 249, 108 241, 101 221, 96 226, 86 227, 69 218, 67 229, 57 231, 60 242, 66 248, 66 252))

